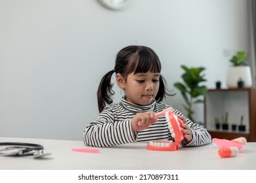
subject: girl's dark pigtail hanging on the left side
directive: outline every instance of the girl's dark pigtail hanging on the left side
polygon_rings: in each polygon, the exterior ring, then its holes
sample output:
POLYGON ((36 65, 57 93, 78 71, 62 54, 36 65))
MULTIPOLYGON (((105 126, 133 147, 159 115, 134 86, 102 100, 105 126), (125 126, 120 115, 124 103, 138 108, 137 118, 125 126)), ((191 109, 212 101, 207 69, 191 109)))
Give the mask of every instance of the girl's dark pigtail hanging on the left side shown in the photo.
POLYGON ((115 73, 115 70, 106 73, 98 85, 97 99, 99 112, 102 112, 104 107, 106 107, 106 104, 110 105, 113 103, 112 95, 115 94, 114 90, 112 90, 114 84, 111 83, 113 73, 115 73))

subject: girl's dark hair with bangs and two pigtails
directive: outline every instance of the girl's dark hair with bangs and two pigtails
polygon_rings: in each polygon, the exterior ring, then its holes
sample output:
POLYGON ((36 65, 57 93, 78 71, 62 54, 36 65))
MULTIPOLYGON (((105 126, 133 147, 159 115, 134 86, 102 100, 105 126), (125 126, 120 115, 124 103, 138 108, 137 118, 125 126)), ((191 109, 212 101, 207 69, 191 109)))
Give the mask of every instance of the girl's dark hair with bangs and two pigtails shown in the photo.
MULTIPOLYGON (((112 71, 104 75, 100 81, 97 91, 98 110, 102 112, 106 103, 113 103, 112 95, 115 92, 112 90, 113 84, 111 78, 113 73, 119 73, 125 80, 131 73, 161 73, 161 62, 154 50, 146 46, 127 46, 121 49, 116 56, 116 64, 112 71)), ((163 100, 165 95, 171 95, 167 92, 165 79, 160 75, 160 86, 156 95, 156 101, 163 100)))

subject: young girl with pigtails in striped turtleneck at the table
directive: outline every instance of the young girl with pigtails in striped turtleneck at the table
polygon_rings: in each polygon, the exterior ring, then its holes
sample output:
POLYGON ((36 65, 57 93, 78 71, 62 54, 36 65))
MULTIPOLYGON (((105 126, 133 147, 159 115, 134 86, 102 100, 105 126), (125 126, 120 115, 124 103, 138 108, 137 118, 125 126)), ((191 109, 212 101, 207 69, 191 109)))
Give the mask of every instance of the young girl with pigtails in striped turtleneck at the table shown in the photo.
MULTIPOLYGON (((156 112, 171 107, 160 103, 165 95, 169 95, 160 73, 160 59, 151 48, 127 46, 120 50, 114 69, 103 76, 98 86, 100 115, 85 128, 84 143, 104 147, 132 142, 174 141, 165 116, 152 120, 156 112), (118 86, 125 93, 120 103, 112 100, 111 78, 114 73, 118 86)), ((182 146, 211 143, 211 135, 204 127, 184 118, 178 110, 174 109, 174 112, 184 122, 182 146)))

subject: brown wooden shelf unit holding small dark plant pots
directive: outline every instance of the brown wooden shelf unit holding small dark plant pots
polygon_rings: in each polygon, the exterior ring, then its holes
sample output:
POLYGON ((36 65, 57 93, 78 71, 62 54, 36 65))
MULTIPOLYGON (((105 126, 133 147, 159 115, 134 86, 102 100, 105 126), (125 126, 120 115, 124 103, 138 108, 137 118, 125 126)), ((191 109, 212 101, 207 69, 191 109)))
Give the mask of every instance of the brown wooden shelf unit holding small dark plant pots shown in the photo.
POLYGON ((235 139, 245 137, 248 142, 256 141, 256 89, 232 88, 208 90, 204 105, 205 127, 213 138, 235 139), (228 112, 229 130, 216 129, 214 118, 228 112), (246 131, 232 131, 231 125, 240 125, 244 116, 246 131))

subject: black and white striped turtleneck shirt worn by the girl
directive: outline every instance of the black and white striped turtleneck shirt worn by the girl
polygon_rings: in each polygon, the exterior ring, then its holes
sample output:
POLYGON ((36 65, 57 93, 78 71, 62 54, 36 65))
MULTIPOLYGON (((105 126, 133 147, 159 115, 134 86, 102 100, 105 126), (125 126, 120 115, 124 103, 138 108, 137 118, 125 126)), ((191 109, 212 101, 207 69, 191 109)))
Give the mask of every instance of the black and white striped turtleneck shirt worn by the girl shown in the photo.
MULTIPOLYGON (((150 105, 138 106, 122 99, 120 103, 111 104, 105 107, 98 118, 87 125, 83 133, 83 141, 87 146, 104 147, 132 142, 173 140, 165 116, 158 118, 158 122, 150 125, 147 129, 136 132, 131 130, 131 119, 137 112, 146 112, 150 110, 160 112, 168 107, 171 106, 163 103, 156 103, 156 101, 152 101, 150 105)), ((178 110, 174 108, 173 110, 179 116, 183 116, 178 110)), ((203 144, 211 143, 211 135, 209 135, 204 127, 193 123, 189 119, 186 120, 186 123, 191 128, 192 141, 188 144, 182 141, 182 145, 201 146, 203 144)))

